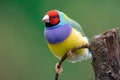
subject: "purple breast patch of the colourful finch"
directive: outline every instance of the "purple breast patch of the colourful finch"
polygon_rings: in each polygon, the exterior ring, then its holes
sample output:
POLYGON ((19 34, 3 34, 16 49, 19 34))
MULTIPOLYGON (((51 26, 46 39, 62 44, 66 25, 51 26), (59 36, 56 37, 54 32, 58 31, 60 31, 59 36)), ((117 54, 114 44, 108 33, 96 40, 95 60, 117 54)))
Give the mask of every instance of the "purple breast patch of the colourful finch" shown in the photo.
POLYGON ((55 28, 45 28, 44 36, 48 43, 55 44, 64 41, 71 33, 70 24, 57 26, 55 28))

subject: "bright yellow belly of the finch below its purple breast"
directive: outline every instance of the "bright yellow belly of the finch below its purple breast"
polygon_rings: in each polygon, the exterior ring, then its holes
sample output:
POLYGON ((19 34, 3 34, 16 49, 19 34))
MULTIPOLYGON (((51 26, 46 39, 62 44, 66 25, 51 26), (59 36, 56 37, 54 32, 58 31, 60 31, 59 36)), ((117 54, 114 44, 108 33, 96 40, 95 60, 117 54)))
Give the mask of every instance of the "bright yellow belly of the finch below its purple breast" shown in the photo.
MULTIPOLYGON (((48 46, 57 58, 61 58, 68 50, 87 43, 87 39, 85 39, 80 32, 72 28, 72 32, 66 40, 56 44, 48 44, 48 46)), ((86 49, 80 49, 76 51, 75 54, 84 55, 85 50, 86 49)))

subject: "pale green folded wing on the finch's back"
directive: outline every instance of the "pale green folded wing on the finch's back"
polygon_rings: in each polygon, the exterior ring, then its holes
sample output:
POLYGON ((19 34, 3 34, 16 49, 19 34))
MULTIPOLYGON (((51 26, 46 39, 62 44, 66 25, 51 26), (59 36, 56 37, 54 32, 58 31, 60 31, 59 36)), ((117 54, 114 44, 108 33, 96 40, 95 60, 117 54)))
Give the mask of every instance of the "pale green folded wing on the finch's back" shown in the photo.
POLYGON ((76 21, 74 21, 70 18, 69 18, 68 22, 72 25, 73 28, 75 28, 77 31, 79 31, 85 37, 85 33, 83 32, 82 27, 80 26, 79 23, 77 23, 76 21))

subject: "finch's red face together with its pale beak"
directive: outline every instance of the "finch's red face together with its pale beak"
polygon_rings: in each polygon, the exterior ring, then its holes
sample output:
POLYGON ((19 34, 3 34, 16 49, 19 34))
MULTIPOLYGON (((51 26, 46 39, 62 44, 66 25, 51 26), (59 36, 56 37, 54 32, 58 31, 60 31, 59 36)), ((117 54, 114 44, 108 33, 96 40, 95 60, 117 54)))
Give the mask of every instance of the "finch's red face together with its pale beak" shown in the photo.
POLYGON ((60 19, 57 10, 48 11, 42 21, 53 26, 58 24, 60 19))

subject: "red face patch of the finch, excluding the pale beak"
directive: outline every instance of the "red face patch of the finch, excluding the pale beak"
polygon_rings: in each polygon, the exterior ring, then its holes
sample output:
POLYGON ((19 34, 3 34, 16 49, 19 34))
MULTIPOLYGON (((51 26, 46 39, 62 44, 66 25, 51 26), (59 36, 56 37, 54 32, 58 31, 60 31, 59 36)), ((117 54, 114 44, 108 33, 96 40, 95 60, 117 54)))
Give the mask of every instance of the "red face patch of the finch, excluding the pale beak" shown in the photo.
POLYGON ((59 16, 56 10, 51 10, 47 12, 47 15, 49 16, 50 24, 56 25, 59 22, 59 16))

